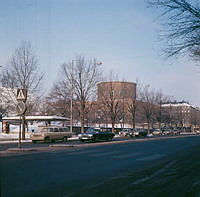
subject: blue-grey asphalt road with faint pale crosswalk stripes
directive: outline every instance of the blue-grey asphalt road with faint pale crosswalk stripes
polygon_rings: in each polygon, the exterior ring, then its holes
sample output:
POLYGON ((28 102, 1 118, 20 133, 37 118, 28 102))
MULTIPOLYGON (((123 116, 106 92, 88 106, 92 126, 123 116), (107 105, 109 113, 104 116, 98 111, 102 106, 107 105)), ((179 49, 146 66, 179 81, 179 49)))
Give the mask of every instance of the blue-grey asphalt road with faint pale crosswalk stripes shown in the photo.
POLYGON ((2 155, 1 196, 76 196, 109 177, 154 165, 197 145, 200 136, 2 155))

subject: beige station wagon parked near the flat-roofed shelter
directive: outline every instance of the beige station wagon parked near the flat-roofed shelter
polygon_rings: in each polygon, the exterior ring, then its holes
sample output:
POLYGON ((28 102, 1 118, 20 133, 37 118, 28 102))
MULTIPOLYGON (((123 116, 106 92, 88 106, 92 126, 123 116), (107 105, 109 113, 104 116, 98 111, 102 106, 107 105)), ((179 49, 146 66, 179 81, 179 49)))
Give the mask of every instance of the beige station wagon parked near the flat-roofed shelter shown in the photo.
POLYGON ((39 128, 39 132, 32 133, 30 139, 33 143, 37 141, 52 142, 55 140, 67 141, 72 136, 68 127, 45 126, 39 128))

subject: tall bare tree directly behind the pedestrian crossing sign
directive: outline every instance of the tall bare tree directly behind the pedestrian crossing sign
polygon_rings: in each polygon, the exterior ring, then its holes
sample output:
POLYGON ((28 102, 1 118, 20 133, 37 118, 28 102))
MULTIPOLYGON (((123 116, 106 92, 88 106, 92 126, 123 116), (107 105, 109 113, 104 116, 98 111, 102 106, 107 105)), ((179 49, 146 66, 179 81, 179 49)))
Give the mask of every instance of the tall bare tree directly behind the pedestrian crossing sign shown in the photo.
MULTIPOLYGON (((23 42, 12 55, 7 67, 3 70, 2 86, 4 88, 4 99, 16 104, 16 89, 28 90, 27 106, 30 107, 38 101, 40 84, 44 74, 38 69, 38 61, 33 53, 29 42, 23 42)), ((22 139, 25 138, 25 130, 22 132, 22 139)))

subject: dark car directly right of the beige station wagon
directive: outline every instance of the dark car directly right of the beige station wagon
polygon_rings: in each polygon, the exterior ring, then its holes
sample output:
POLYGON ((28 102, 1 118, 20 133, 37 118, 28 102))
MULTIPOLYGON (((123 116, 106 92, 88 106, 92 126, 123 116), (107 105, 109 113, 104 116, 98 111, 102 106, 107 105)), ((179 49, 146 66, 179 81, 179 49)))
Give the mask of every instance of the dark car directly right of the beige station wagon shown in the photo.
POLYGON ((115 136, 112 132, 102 132, 102 131, 93 131, 81 133, 78 135, 80 141, 109 141, 112 140, 115 136))

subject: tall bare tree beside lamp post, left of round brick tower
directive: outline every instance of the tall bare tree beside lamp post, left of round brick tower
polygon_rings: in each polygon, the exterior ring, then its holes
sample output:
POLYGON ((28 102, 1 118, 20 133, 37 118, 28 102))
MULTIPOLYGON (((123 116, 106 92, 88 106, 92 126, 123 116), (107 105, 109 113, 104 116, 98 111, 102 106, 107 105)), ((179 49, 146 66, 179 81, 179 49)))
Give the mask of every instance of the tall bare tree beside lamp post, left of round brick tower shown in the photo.
POLYGON ((80 112, 81 132, 84 132, 85 114, 87 102, 94 99, 96 85, 101 79, 100 67, 96 59, 85 60, 84 57, 76 58, 75 64, 72 62, 64 63, 61 67, 64 80, 73 87, 75 103, 78 104, 80 112))

